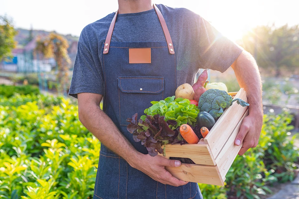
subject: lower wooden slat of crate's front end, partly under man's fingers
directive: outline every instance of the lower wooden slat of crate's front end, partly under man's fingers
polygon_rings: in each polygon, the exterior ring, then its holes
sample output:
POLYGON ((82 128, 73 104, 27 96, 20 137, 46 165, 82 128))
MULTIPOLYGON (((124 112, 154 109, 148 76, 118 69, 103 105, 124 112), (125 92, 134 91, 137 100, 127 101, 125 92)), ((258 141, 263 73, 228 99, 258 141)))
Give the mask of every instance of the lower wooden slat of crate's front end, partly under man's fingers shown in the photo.
POLYGON ((165 169, 174 177, 187 182, 224 185, 217 166, 182 164, 180 167, 165 167, 165 169))

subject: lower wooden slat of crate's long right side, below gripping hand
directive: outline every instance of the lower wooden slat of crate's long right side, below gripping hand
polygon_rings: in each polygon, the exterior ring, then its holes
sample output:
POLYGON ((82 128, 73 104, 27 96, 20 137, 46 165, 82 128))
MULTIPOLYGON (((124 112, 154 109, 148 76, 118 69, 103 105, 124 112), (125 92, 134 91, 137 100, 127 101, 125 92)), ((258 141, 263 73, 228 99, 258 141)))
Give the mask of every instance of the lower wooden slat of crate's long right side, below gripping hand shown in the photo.
POLYGON ((225 177, 228 170, 230 169, 231 164, 233 164, 238 152, 240 151, 243 143, 240 146, 235 145, 235 139, 240 130, 241 123, 243 119, 249 114, 249 110, 247 109, 240 119, 239 123, 235 127, 234 131, 231 133, 230 137, 226 141, 225 145, 221 149, 221 152, 216 157, 216 164, 219 168, 220 174, 222 177, 225 177))

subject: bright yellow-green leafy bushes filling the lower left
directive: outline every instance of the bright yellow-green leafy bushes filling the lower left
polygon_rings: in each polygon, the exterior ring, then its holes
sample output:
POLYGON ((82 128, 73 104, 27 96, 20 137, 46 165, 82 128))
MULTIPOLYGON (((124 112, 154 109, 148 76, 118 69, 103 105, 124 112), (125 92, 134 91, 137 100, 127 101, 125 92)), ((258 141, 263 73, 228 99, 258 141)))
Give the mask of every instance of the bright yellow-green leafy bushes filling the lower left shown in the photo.
POLYGON ((41 99, 0 102, 7 104, 0 105, 0 198, 92 198, 99 141, 79 122, 76 105, 41 99))

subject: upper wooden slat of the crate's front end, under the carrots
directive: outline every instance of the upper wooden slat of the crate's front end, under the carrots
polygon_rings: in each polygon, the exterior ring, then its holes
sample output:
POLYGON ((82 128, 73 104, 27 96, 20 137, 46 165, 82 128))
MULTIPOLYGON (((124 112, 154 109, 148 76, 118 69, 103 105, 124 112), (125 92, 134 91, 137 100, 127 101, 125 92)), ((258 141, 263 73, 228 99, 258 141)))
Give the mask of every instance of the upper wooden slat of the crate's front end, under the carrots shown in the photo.
MULTIPOLYGON (((161 155, 161 154, 159 154, 161 155)), ((206 144, 167 144, 165 145, 165 157, 190 158, 195 164, 216 165, 206 144)))

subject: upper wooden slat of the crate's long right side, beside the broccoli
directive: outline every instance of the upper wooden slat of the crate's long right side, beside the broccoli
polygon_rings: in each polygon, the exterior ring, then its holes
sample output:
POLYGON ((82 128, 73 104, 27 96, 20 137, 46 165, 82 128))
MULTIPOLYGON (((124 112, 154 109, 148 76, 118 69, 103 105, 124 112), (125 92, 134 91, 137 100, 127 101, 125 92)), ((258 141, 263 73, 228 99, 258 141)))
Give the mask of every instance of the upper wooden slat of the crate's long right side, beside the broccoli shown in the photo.
MULTIPOLYGON (((241 88, 235 98, 240 98, 247 102, 245 90, 241 88)), ((224 111, 209 134, 205 137, 204 141, 209 145, 213 157, 217 157, 246 109, 247 107, 242 107, 240 104, 234 102, 224 111)))

